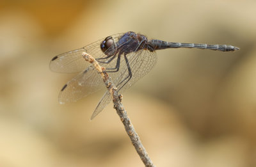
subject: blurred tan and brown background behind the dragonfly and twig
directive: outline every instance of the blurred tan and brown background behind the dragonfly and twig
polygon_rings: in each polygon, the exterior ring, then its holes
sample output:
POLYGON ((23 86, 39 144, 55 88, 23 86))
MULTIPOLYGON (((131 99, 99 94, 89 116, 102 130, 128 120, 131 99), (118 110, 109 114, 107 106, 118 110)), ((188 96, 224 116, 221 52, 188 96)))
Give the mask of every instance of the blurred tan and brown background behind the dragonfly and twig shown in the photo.
POLYGON ((158 51, 124 106, 156 166, 256 166, 255 1, 0 1, 0 166, 143 166, 105 90, 61 105, 51 58, 135 31, 238 52, 158 51))

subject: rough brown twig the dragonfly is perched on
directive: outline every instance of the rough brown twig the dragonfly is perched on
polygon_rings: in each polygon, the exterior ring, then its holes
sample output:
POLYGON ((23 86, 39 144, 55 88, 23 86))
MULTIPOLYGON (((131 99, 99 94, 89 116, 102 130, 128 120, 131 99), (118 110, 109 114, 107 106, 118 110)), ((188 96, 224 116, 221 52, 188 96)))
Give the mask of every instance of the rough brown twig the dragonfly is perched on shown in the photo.
POLYGON ((147 151, 143 147, 138 134, 136 133, 131 120, 129 119, 127 112, 124 109, 123 104, 121 103, 122 95, 118 95, 117 88, 115 87, 111 77, 105 72, 106 68, 101 67, 99 63, 93 58, 90 54, 83 52, 83 58, 92 63, 93 66, 97 69, 99 74, 101 75, 106 87, 108 88, 109 92, 113 98, 114 108, 116 109, 116 113, 120 116, 121 121, 124 124, 125 131, 127 132, 128 136, 132 141, 132 145, 134 145, 136 151, 140 155, 141 160, 145 164, 145 166, 154 166, 151 159, 148 157, 147 151))

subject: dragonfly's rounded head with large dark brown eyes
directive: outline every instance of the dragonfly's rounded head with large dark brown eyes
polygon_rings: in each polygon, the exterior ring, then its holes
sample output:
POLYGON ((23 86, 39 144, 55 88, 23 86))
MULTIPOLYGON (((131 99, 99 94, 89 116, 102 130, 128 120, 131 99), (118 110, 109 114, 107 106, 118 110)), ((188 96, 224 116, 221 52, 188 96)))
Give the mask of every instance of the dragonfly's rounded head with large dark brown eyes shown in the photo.
POLYGON ((108 36, 104 41, 100 44, 100 49, 107 56, 113 56, 116 52, 115 41, 112 36, 108 36))

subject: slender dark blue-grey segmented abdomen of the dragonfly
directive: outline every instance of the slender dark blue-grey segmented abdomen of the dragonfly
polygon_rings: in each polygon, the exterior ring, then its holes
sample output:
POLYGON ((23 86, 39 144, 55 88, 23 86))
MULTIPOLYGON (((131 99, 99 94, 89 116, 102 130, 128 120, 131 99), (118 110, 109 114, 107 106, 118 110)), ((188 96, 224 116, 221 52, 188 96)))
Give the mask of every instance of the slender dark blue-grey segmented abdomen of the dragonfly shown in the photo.
POLYGON ((209 45, 209 44, 186 44, 186 43, 175 43, 175 42, 165 42, 163 40, 150 40, 150 45, 152 45, 156 50, 168 49, 168 48, 198 48, 198 49, 209 49, 213 51, 238 51, 238 47, 232 45, 209 45))

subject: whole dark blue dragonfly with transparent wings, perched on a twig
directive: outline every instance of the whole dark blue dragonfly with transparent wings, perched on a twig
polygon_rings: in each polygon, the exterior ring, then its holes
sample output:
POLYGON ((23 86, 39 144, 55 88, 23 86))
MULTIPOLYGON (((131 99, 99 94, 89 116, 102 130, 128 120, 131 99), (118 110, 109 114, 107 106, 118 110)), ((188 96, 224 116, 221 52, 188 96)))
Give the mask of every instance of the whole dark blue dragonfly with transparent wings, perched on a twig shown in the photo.
MULTIPOLYGON (((118 93, 123 93, 156 65, 157 50, 169 48, 197 48, 223 52, 239 50, 232 45, 165 42, 156 39, 148 40, 147 36, 132 31, 118 33, 52 58, 50 62, 52 71, 79 73, 61 88, 58 100, 61 104, 75 102, 104 87, 97 70, 84 60, 83 52, 92 55, 100 66, 106 68, 106 72, 116 84, 118 93)), ((106 91, 93 111, 91 120, 109 102, 111 102, 111 95, 106 91)))

